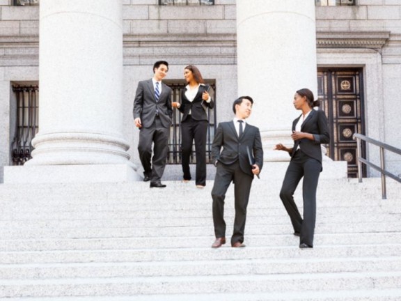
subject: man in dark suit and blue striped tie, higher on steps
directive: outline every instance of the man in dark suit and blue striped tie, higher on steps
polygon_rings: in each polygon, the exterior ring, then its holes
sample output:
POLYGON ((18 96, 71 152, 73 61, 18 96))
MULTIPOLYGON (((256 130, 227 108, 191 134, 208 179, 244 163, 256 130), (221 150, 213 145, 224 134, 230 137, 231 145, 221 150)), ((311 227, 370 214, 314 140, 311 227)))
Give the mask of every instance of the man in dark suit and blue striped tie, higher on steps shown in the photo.
POLYGON ((152 79, 139 82, 136 88, 134 123, 141 130, 138 151, 144 169, 143 180, 150 180, 150 187, 166 187, 161 178, 166 167, 168 136, 173 116, 171 88, 162 83, 168 72, 168 63, 157 61, 153 65, 153 72, 155 75, 152 79))

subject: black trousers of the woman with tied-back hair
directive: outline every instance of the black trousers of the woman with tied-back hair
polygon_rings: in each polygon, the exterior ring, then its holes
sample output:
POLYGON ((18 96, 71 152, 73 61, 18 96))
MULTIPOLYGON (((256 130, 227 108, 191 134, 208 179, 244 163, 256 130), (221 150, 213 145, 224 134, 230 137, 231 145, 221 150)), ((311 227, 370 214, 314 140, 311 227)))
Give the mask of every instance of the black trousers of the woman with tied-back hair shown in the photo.
POLYGON ((322 163, 302 153, 301 150, 297 151, 288 165, 280 192, 281 201, 290 215, 294 231, 300 233, 299 243, 306 243, 311 247, 313 247, 315 233, 316 189, 320 171, 322 171, 322 163), (301 217, 297 204, 294 202, 294 192, 302 177, 304 177, 302 185, 304 218, 301 217))

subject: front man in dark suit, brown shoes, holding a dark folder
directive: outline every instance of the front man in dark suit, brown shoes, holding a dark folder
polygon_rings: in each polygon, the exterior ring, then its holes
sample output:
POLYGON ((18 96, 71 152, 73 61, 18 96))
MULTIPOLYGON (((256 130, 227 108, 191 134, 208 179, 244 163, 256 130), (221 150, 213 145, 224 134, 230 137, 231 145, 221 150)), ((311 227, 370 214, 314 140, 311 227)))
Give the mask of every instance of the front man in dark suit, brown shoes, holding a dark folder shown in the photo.
POLYGON ((234 183, 235 195, 235 221, 231 246, 245 247, 243 242, 249 193, 253 176, 260 173, 263 165, 263 148, 259 129, 245 121, 251 114, 252 105, 253 100, 249 96, 242 96, 235 100, 234 120, 219 123, 217 132, 214 134, 212 159, 217 171, 212 189, 214 235, 216 236, 213 248, 221 247, 226 243, 224 199, 231 181, 234 183))

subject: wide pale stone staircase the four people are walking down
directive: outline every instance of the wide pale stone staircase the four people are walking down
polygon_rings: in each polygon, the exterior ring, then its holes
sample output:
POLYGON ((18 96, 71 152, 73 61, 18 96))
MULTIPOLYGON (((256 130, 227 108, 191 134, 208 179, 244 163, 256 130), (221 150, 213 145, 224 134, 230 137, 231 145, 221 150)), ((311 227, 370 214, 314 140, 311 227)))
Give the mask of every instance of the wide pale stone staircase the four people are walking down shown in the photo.
MULTIPOLYGON (((399 183, 321 179, 313 249, 281 180, 253 181, 244 249, 210 247, 212 181, 164 183, 0 185, 0 300, 401 300, 399 183)), ((230 187, 228 237, 233 213, 230 187)))

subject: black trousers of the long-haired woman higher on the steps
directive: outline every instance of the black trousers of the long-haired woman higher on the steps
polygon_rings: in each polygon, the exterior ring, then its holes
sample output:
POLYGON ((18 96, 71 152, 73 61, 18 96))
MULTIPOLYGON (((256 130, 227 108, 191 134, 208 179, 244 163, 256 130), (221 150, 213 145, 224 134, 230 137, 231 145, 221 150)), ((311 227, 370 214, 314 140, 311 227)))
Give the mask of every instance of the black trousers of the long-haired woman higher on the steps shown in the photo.
POLYGON ((207 121, 196 121, 191 115, 181 123, 182 133, 182 173, 184 180, 191 180, 189 157, 192 153, 192 143, 195 140, 196 153, 196 185, 206 185, 206 134, 207 121))

